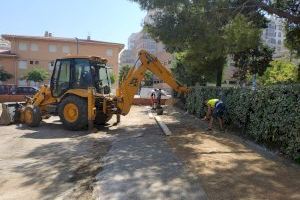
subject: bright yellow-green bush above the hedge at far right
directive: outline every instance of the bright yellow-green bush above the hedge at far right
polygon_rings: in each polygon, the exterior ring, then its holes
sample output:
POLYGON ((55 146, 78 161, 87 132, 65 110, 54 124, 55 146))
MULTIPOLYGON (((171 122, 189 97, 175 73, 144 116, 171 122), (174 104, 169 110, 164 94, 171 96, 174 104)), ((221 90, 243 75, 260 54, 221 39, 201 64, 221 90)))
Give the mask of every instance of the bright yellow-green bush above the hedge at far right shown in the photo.
POLYGON ((275 60, 271 62, 260 81, 264 85, 278 83, 293 83, 297 81, 298 69, 297 66, 289 61, 275 60))

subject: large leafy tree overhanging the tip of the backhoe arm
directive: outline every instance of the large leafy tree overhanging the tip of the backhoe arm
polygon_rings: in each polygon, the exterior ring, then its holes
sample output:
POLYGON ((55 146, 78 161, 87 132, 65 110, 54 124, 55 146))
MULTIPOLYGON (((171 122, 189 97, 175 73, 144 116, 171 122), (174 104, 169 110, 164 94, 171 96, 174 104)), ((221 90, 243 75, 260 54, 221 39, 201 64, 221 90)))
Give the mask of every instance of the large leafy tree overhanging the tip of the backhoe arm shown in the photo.
POLYGON ((244 9, 241 12, 232 9, 242 4, 240 1, 132 1, 138 2, 143 9, 157 11, 151 24, 145 24, 145 30, 162 41, 169 52, 184 52, 191 68, 199 69, 205 76, 214 73, 217 86, 222 82, 228 52, 228 43, 224 39, 226 25, 238 13, 257 26, 265 24, 264 17, 257 10, 244 9))

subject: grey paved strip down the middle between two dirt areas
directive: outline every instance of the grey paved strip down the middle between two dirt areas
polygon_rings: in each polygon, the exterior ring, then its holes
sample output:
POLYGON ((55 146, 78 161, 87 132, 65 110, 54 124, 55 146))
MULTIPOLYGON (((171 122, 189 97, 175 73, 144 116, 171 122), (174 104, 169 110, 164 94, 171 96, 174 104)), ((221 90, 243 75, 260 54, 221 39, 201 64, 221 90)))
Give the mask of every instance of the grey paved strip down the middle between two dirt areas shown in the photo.
POLYGON ((118 137, 102 160, 94 196, 113 200, 206 199, 199 180, 185 170, 145 107, 134 107, 126 119, 115 130, 118 137))

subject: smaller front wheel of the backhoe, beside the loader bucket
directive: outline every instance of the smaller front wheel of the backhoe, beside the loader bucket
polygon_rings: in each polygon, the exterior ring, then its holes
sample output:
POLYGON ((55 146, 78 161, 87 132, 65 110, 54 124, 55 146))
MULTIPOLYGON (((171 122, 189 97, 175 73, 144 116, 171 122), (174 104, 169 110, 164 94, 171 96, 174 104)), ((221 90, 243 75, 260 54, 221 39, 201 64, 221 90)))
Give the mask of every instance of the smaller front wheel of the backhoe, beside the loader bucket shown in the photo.
POLYGON ((24 109, 24 122, 27 126, 38 127, 42 121, 42 114, 39 107, 27 105, 24 109))

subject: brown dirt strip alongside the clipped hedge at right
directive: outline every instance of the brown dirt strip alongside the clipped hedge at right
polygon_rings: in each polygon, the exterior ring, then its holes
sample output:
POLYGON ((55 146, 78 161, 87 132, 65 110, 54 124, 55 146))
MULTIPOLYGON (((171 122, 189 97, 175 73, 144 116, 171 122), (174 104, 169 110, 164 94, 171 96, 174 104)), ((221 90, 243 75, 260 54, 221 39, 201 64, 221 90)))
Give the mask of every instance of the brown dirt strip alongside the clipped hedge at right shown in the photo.
POLYGON ((199 176, 208 199, 300 199, 299 166, 234 134, 206 132, 205 122, 179 109, 167 112, 168 143, 199 176))

